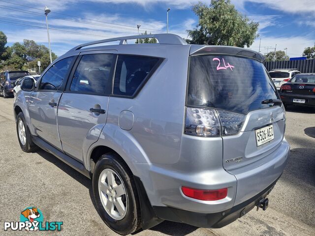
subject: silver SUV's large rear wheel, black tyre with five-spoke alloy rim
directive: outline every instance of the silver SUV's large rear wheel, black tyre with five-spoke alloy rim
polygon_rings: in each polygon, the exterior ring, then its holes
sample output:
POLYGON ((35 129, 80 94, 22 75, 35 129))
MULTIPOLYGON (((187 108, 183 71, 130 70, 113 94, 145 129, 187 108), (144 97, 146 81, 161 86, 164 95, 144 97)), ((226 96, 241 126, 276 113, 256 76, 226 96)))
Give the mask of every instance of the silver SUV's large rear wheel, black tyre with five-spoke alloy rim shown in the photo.
MULTIPOLYGON (((128 235, 142 227, 140 203, 136 185, 131 171, 126 164, 121 161, 121 157, 118 154, 107 153, 101 156, 95 165, 92 182, 98 214, 109 228, 120 235, 128 235), (111 187, 113 181, 109 180, 111 174, 113 174, 112 177, 114 177, 112 178, 114 179, 113 187, 111 187), (119 187, 121 185, 123 187, 119 187), (120 190, 118 190, 118 187, 120 190), (118 191, 120 193, 124 192, 122 188, 124 188, 125 193, 120 195, 118 191), (114 191, 114 193, 112 193, 112 191, 114 191), (110 198, 112 201, 110 201, 110 198), (109 213, 108 210, 106 210, 105 206, 107 206, 107 203, 109 203, 109 206, 114 205, 111 208, 111 212, 114 213, 109 213), (120 214, 120 211, 116 207, 118 206, 117 204, 120 204, 120 206, 124 204, 124 213, 120 214)), ((107 207, 107 209, 108 208, 109 207, 107 207)), ((123 211, 122 207, 120 207, 120 209, 123 211)))

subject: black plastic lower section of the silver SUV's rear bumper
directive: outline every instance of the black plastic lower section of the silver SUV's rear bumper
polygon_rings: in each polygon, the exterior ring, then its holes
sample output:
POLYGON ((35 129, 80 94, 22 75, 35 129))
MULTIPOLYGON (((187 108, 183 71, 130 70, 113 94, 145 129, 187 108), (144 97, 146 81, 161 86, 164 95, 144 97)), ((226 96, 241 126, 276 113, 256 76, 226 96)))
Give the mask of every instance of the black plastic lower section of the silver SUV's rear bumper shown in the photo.
POLYGON ((278 178, 266 189, 251 199, 234 206, 230 209, 217 213, 199 213, 182 210, 173 207, 153 207, 158 218, 175 222, 186 223, 201 228, 221 228, 232 223, 248 213, 258 205, 259 201, 265 198, 273 189, 278 178))

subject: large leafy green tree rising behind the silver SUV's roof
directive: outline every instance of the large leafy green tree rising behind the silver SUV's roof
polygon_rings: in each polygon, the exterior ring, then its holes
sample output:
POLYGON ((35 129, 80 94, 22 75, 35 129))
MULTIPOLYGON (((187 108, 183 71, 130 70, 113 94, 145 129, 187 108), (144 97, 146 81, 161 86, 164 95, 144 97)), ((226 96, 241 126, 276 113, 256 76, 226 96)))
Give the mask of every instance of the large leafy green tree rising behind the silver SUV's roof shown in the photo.
POLYGON ((196 28, 187 30, 191 44, 250 47, 259 23, 238 12, 230 0, 211 0, 209 7, 201 2, 192 6, 199 21, 196 28))

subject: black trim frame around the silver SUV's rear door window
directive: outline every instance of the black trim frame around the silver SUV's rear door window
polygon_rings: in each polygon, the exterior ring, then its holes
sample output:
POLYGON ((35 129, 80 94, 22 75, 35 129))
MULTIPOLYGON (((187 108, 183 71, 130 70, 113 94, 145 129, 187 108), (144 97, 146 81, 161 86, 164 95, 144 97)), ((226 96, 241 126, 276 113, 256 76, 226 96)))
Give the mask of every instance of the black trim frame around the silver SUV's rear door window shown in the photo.
POLYGON ((69 74, 69 77, 68 77, 68 79, 67 79, 67 83, 66 83, 66 85, 65 85, 65 87, 64 87, 64 89, 63 89, 63 92, 64 92, 64 93, 76 93, 76 94, 87 94, 87 95, 106 96, 106 97, 111 96, 111 94, 112 94, 112 90, 111 90, 111 89, 112 89, 112 87, 113 87, 113 81, 114 81, 113 78, 114 78, 115 69, 116 69, 117 56, 118 56, 118 55, 115 54, 115 53, 106 53, 105 51, 104 51, 104 52, 99 52, 99 53, 91 53, 91 54, 89 54, 89 53, 88 53, 88 54, 80 54, 80 55, 78 56, 78 58, 77 58, 75 64, 72 66, 71 73, 69 74), (95 92, 71 91, 71 90, 70 90, 70 87, 71 87, 71 84, 72 84, 73 76, 74 76, 74 74, 75 74, 75 72, 76 72, 76 70, 77 70, 77 68, 78 68, 78 65, 79 65, 79 63, 80 63, 82 57, 85 56, 85 55, 95 55, 95 54, 114 55, 114 58, 113 58, 113 60, 114 60, 114 66, 113 66, 113 68, 111 68, 110 76, 109 76, 109 80, 110 80, 110 78, 112 78, 112 79, 111 79, 111 85, 109 86, 109 89, 108 89, 109 93, 108 93, 108 94, 103 94, 103 93, 95 93, 95 92))

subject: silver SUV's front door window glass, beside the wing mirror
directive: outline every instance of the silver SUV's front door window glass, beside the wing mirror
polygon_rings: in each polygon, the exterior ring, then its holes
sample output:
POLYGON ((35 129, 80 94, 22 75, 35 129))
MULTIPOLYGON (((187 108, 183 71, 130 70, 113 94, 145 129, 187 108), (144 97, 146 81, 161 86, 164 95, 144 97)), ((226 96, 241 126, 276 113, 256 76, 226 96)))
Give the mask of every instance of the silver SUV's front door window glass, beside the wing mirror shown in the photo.
POLYGON ((58 90, 69 70, 74 57, 62 59, 55 63, 43 75, 38 90, 58 90))

